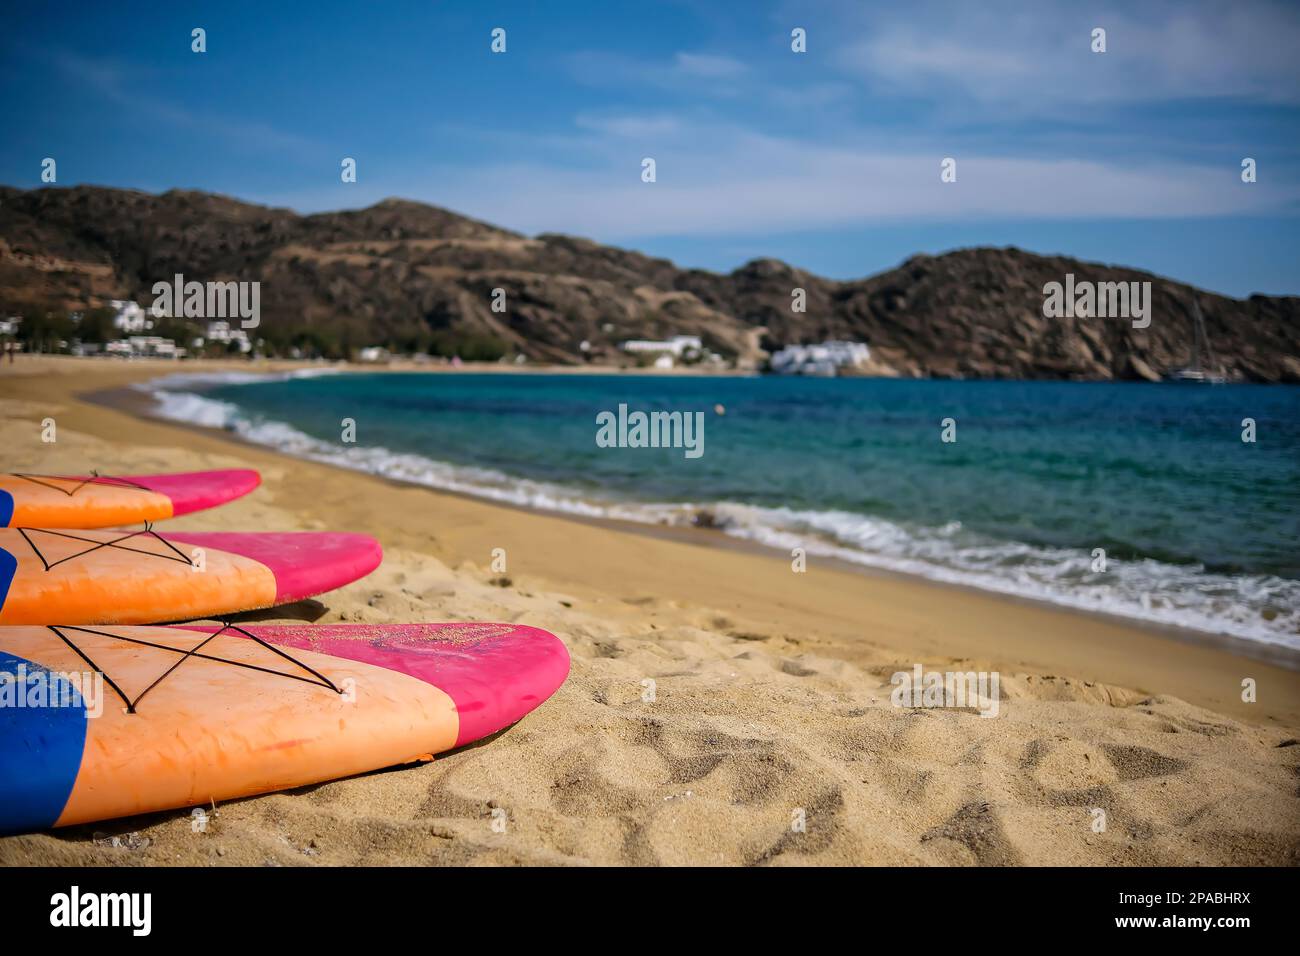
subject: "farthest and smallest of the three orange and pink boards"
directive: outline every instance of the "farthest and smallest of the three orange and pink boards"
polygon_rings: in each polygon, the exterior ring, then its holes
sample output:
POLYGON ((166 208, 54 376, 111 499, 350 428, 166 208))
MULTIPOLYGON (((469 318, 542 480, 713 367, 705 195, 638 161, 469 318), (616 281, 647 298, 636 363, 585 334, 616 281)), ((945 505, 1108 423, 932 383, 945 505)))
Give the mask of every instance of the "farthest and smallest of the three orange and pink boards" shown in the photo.
POLYGON ((0 528, 110 528, 216 507, 261 483, 248 468, 174 475, 0 475, 0 528))

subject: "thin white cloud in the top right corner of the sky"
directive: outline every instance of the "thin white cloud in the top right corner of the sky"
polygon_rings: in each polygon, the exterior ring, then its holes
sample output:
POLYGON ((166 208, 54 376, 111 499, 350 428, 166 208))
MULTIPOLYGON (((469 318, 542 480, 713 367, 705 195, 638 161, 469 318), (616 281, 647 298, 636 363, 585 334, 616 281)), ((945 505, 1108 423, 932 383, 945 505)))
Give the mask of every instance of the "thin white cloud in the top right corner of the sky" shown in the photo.
POLYGON ((836 64, 879 91, 1017 112, 1228 96, 1300 103, 1300 8, 1247 0, 1083 8, 928 3, 845 12, 836 64), (1106 52, 1091 51, 1093 27, 1106 52))

